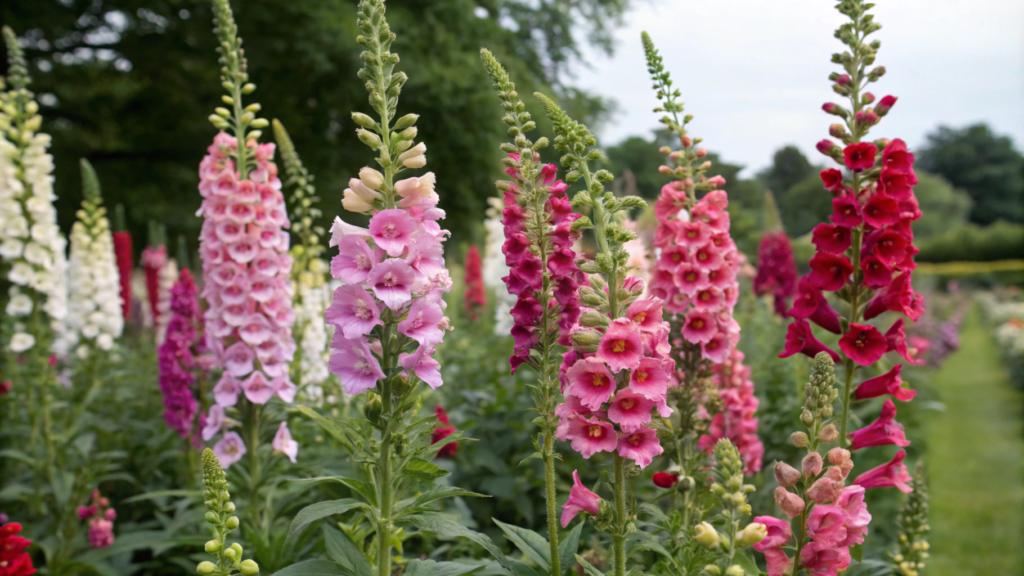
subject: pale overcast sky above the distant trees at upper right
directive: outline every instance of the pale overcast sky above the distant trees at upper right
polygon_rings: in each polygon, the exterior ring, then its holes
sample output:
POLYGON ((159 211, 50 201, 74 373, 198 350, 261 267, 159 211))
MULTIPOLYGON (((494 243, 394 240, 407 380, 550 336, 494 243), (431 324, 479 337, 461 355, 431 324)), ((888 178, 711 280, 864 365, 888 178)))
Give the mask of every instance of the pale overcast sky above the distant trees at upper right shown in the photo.
MULTIPOLYGON (((759 170, 772 153, 798 145, 819 162, 814 143, 835 117, 827 76, 844 16, 830 0, 634 0, 615 33, 614 55, 589 51, 581 87, 616 100, 601 129, 605 146, 659 126, 640 32, 659 49, 686 111, 690 133, 731 163, 759 170)), ((1024 148, 1024 1, 878 0, 883 28, 876 65, 886 76, 870 90, 899 101, 872 135, 911 147, 940 124, 987 122, 1024 148)))

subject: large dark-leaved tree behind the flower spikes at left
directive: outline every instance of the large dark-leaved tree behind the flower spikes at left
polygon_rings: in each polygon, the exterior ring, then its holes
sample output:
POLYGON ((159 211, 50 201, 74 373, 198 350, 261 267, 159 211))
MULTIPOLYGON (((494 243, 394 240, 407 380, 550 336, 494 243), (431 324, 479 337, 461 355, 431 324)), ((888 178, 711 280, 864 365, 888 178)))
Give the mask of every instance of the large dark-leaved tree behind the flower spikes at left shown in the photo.
MULTIPOLYGON (((362 86, 352 81, 360 51, 355 4, 247 0, 237 6, 263 111, 284 122, 317 174, 326 217, 337 212, 345 182, 359 168, 354 159, 360 145, 341 137, 356 128, 347 111, 369 110, 362 86)), ((403 101, 422 115, 420 129, 434 134, 431 166, 449 213, 446 228, 456 236, 475 234, 470 222, 482 214, 501 170, 494 151, 504 131, 492 121, 495 104, 479 65, 480 46, 507 56, 523 93, 553 88, 577 114, 600 114, 607 102, 568 88, 564 73, 584 42, 610 50, 610 31, 627 4, 388 2, 389 20, 402 31, 395 43, 403 55, 400 68, 416 69, 403 101)), ((166 223, 171 236, 185 234, 195 247, 198 166, 214 134, 206 117, 220 100, 209 2, 3 2, 0 20, 22 35, 44 130, 53 134, 61 224, 74 218, 80 188, 72 174, 84 157, 106 183, 111 204, 127 207, 137 238, 144 238, 154 219, 166 223)))

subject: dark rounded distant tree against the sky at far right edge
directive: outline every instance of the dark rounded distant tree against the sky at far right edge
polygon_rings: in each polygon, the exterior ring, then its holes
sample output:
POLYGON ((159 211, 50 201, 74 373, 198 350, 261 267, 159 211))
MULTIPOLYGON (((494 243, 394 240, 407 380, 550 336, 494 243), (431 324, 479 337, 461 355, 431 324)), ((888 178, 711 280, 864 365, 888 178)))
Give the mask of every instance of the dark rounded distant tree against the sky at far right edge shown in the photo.
POLYGON ((971 221, 1024 223, 1024 156, 987 125, 941 126, 918 153, 923 170, 940 174, 974 201, 971 221))

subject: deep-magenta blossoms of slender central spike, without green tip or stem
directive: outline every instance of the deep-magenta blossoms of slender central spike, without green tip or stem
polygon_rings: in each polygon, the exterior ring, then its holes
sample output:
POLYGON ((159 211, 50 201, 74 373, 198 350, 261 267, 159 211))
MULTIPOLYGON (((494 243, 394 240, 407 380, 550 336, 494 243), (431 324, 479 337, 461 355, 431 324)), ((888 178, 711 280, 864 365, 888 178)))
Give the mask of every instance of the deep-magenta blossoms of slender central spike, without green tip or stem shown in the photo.
MULTIPOLYGON (((519 154, 511 153, 509 158, 518 162, 519 154)), ((540 155, 535 155, 534 162, 540 162, 540 155)), ((540 340, 544 306, 554 306, 551 312, 558 315, 559 343, 571 343, 569 336, 580 319, 579 288, 584 278, 577 265, 578 254, 572 248, 580 238, 580 233, 572 231, 572 222, 580 214, 572 212, 569 199, 565 196, 568 186, 556 179, 558 168, 554 164, 543 165, 532 182, 535 189, 547 193, 544 213, 540 215, 544 224, 540 231, 531 229, 538 219, 536 208, 520 198, 524 182, 519 171, 511 166, 505 171, 512 178, 512 183, 503 193, 505 244, 502 245, 502 253, 505 254, 509 274, 502 280, 508 292, 516 296, 516 303, 510 311, 514 322, 512 338, 515 341, 510 362, 515 373, 522 363, 529 360, 529 351, 540 340), (550 253, 546 254, 547 270, 545 262, 541 261, 541 242, 547 243, 550 249, 550 253), (550 275, 553 300, 542 302, 539 296, 543 296, 541 292, 546 274, 550 275)))

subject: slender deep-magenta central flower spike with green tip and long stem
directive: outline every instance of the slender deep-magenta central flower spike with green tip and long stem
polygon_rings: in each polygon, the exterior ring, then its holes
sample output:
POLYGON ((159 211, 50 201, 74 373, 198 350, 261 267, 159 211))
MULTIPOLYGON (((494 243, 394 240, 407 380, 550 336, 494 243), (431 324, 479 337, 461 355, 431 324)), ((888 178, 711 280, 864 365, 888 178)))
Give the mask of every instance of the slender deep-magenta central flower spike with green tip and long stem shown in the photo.
MULTIPOLYGON (((554 472, 554 440, 556 427, 569 429, 570 426, 558 426, 557 403, 559 400, 558 365, 562 360, 560 346, 569 345, 572 329, 580 319, 581 304, 579 288, 583 282, 583 274, 577 266, 578 255, 572 248, 580 238, 580 233, 572 228, 579 214, 571 212, 571 206, 565 197, 568 188, 562 180, 556 179, 558 168, 554 164, 541 164, 538 151, 547 146, 547 139, 541 138, 536 143, 526 138, 526 133, 534 130, 536 124, 526 107, 519 99, 515 84, 509 79, 501 63, 483 49, 480 51, 483 66, 490 76, 493 87, 498 93, 506 115, 503 122, 509 126, 509 136, 513 142, 502 145, 505 172, 510 180, 498 182, 502 201, 496 207, 501 207, 501 230, 497 222, 488 224, 488 250, 497 248, 497 240, 504 238, 501 253, 504 254, 504 266, 498 261, 497 253, 487 254, 489 269, 495 274, 503 268, 508 271, 502 280, 504 286, 498 287, 499 300, 514 304, 508 310, 511 317, 511 334, 514 347, 510 359, 511 371, 523 364, 529 366, 539 376, 539 385, 534 395, 534 401, 544 433, 541 455, 545 465, 545 497, 548 516, 548 543, 552 558, 553 570, 560 570, 558 557, 558 525, 555 502, 554 472), (500 237, 499 237, 500 234, 500 237)), ((497 218, 497 214, 496 214, 497 218)), ((499 314, 503 306, 498 306, 499 314)), ((507 326, 507 318, 499 317, 500 326, 507 326)), ((567 367, 566 367, 567 368, 567 367)), ((581 374, 584 378, 589 374, 581 374)), ((604 381, 611 386, 610 378, 605 374, 589 375, 591 379, 606 378, 604 381)), ((593 402, 600 404, 600 400, 593 402)), ((590 426, 582 421, 575 421, 573 430, 590 426)), ((583 437, 573 442, 581 450, 592 454, 599 449, 614 447, 614 434, 608 435, 607 427, 594 428, 597 437, 583 437), (590 440, 587 440, 590 439, 590 440), (603 441, 603 443, 602 443, 603 441), (602 448, 603 447, 603 448, 602 448)), ((563 438, 559 435, 559 438, 563 438)), ((574 515, 573 515, 574 516, 574 515)), ((565 520, 565 515, 562 519, 565 520)))

